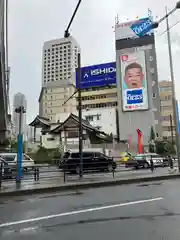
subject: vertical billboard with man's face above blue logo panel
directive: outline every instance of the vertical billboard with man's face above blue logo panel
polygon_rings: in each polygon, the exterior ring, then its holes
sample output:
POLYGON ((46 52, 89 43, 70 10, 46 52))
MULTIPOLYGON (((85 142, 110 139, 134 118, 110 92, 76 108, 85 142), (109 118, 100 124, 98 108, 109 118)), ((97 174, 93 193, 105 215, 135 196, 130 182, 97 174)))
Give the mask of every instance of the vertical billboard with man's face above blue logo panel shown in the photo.
POLYGON ((139 50, 120 55, 123 111, 148 109, 145 52, 139 50))

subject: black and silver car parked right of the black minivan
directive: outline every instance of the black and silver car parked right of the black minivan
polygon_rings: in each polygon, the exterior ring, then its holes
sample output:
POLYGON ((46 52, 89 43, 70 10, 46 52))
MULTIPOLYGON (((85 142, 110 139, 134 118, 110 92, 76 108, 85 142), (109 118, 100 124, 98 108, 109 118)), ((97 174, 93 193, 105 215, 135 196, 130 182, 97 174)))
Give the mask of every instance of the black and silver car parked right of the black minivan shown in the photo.
POLYGON ((166 167, 169 165, 168 159, 166 157, 162 157, 156 153, 145 153, 145 154, 137 154, 136 156, 130 158, 126 163, 126 167, 133 168, 149 168, 150 167, 150 159, 152 158, 155 167, 166 167))

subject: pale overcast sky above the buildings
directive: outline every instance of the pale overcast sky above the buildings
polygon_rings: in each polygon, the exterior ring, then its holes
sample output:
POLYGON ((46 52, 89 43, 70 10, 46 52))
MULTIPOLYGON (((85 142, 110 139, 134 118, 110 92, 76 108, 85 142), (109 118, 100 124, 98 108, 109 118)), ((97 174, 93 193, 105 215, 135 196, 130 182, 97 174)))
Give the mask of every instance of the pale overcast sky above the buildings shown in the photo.
MULTIPOLYGON (((22 92, 27 97, 27 119, 38 113, 41 89, 42 46, 44 41, 63 37, 78 0, 9 0, 9 64, 12 96, 22 92)), ((82 0, 71 28, 71 34, 82 50, 82 64, 98 64, 115 60, 112 26, 119 14, 120 21, 144 17, 148 7, 153 16, 165 14, 165 6, 176 0, 82 0)), ((180 10, 170 17, 170 25, 180 20, 180 10)), ((159 80, 169 79, 166 35, 161 24, 156 37, 159 80)), ((180 100, 180 24, 171 30, 177 98, 180 100), (178 30, 179 29, 179 30, 178 30)))

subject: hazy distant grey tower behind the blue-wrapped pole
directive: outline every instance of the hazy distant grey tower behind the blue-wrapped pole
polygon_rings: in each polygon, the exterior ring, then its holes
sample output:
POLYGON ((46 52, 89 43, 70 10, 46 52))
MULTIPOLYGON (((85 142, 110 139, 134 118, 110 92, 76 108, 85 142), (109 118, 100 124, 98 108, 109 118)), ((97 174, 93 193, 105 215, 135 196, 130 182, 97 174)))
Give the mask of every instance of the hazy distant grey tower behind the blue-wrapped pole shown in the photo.
MULTIPOLYGON (((19 133, 19 113, 16 113, 16 108, 23 106, 27 110, 27 101, 26 97, 22 93, 17 93, 14 95, 13 99, 13 135, 17 136, 19 133)), ((22 133, 26 133, 26 113, 22 117, 22 133)))

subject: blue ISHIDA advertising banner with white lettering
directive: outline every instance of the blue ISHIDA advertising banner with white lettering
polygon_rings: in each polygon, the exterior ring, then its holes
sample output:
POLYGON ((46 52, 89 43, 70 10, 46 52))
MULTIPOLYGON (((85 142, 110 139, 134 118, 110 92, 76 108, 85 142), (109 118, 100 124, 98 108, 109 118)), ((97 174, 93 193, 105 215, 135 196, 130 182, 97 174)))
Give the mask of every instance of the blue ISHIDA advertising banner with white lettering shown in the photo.
MULTIPOLYGON (((81 68, 81 88, 101 87, 116 84, 116 63, 104 63, 81 68)), ((76 71, 76 88, 78 75, 76 71)))

